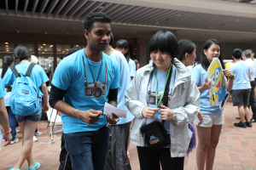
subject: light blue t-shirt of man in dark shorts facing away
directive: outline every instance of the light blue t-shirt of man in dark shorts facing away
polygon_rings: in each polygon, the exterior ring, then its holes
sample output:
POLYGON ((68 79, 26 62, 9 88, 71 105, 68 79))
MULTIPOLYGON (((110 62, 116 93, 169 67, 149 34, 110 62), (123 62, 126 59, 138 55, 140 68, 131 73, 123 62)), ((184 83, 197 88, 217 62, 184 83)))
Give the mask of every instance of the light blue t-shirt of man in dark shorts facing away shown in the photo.
POLYGON ((233 81, 232 90, 251 88, 249 80, 250 67, 245 64, 244 61, 238 61, 233 65, 230 65, 230 71, 236 75, 236 78, 233 81))

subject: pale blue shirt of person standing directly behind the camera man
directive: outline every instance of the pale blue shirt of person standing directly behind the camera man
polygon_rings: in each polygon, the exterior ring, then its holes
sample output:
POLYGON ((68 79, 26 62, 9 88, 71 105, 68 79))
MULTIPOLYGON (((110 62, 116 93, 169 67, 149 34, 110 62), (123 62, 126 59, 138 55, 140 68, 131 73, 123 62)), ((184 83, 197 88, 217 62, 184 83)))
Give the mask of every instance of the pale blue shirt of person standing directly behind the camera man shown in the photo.
POLYGON ((115 59, 119 63, 120 81, 117 108, 127 111, 126 118, 119 117, 119 122, 117 122, 117 124, 125 124, 126 122, 131 122, 134 118, 134 116, 125 105, 125 91, 129 87, 131 82, 129 66, 127 64, 125 56, 117 50, 114 50, 110 57, 115 59))

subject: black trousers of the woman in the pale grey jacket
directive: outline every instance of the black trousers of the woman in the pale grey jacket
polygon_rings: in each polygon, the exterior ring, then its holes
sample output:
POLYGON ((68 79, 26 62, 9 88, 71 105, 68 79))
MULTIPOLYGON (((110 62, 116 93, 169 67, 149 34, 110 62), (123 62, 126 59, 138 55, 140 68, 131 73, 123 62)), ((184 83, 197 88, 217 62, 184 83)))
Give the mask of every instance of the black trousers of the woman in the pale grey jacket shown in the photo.
POLYGON ((183 170, 184 157, 171 157, 170 148, 154 151, 137 146, 141 170, 183 170))

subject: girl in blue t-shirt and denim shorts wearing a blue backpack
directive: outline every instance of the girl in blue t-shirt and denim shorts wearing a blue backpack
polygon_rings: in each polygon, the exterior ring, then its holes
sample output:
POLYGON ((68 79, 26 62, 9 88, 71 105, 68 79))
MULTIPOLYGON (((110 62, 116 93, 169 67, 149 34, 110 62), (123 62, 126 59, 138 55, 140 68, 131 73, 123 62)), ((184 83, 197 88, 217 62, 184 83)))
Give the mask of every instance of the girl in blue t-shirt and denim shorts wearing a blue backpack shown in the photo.
MULTIPOLYGON (((26 75, 26 71, 31 65, 31 51, 26 46, 19 45, 15 48, 15 63, 18 63, 15 65, 15 69, 18 71, 18 73, 26 75)), ((14 167, 12 167, 10 170, 17 170, 20 169, 20 167, 23 165, 24 161, 28 161, 29 169, 35 169, 40 167, 39 162, 34 162, 32 160, 32 144, 33 144, 33 136, 35 133, 35 130, 38 126, 38 122, 40 121, 40 118, 42 116, 42 97, 44 98, 44 111, 49 110, 48 105, 48 91, 46 88, 45 82, 49 81, 49 78, 47 77, 44 69, 40 65, 34 65, 32 67, 32 71, 30 74, 30 78, 32 79, 32 82, 34 82, 39 95, 39 111, 36 113, 31 113, 31 115, 28 116, 20 116, 16 115, 16 120, 19 123, 20 126, 20 132, 22 132, 22 151, 19 157, 18 162, 15 164, 14 167), (41 88, 42 91, 39 89, 41 88), (29 159, 28 159, 29 158, 29 159)), ((6 71, 4 77, 3 77, 3 83, 5 87, 9 87, 12 85, 16 80, 15 74, 11 69, 6 71)), ((15 112, 14 112, 15 114, 15 112)))

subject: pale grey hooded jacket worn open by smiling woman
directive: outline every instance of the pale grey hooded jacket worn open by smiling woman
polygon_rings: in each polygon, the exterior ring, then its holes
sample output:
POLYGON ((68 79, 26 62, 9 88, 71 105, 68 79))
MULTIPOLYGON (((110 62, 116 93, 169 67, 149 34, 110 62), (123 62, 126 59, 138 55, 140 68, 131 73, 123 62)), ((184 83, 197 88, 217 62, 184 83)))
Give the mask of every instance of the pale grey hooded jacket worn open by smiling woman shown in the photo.
MULTIPOLYGON (((177 67, 177 82, 172 88, 168 108, 172 109, 173 117, 169 121, 171 137, 171 157, 183 157, 189 148, 192 132, 188 123, 193 122, 200 108, 200 92, 191 80, 190 72, 178 59, 173 59, 177 67)), ((140 128, 145 125, 143 108, 147 107, 147 87, 150 73, 154 71, 153 62, 143 66, 136 72, 130 87, 125 92, 125 105, 135 116, 131 130, 131 144, 144 146, 140 128)))

